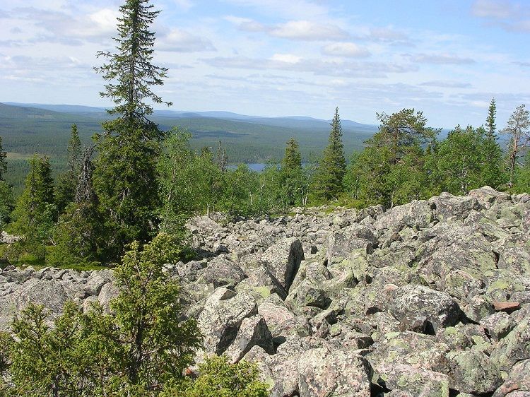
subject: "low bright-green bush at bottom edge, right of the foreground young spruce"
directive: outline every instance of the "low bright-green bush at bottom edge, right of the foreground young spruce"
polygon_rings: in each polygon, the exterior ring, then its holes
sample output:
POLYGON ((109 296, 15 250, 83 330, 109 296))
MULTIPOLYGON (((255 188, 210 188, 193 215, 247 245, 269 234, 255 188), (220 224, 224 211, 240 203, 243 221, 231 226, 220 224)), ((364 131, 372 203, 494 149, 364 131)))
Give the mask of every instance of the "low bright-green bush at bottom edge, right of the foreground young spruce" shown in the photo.
POLYGON ((266 397, 267 386, 259 381, 255 365, 230 364, 226 357, 211 357, 199 366, 200 376, 172 386, 160 397, 266 397))

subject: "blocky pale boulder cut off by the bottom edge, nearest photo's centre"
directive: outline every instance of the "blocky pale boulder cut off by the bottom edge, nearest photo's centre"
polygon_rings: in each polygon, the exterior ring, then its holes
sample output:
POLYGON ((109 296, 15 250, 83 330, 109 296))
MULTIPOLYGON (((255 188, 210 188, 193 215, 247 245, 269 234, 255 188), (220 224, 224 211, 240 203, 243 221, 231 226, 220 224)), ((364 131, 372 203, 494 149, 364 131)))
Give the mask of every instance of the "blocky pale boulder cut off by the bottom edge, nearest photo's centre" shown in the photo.
POLYGON ((349 351, 315 348, 298 360, 300 397, 370 396, 371 377, 367 360, 349 351))

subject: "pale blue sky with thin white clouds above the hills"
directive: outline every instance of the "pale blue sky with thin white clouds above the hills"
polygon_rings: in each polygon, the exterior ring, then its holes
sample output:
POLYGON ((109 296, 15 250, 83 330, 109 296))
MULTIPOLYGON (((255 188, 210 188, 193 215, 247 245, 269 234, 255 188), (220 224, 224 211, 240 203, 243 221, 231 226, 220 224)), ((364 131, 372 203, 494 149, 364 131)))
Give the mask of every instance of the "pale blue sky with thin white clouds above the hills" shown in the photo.
MULTIPOLYGON (((0 102, 110 106, 122 1, 0 0, 0 102)), ((152 0, 171 109, 497 126, 530 105, 530 0, 152 0)), ((161 107, 158 107, 161 108, 161 107)))

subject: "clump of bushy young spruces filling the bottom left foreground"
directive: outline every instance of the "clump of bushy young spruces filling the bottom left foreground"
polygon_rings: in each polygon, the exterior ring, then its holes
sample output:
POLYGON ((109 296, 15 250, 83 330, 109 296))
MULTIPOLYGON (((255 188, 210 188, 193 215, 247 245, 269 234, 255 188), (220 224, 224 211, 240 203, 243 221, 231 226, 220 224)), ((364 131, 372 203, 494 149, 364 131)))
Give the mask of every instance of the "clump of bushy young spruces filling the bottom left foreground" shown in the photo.
POLYGON ((180 247, 165 233, 143 249, 131 244, 114 271, 112 314, 68 303, 49 326, 45 308, 31 304, 13 323, 16 338, 0 334, 0 374, 11 379, 0 388, 7 396, 134 397, 181 381, 201 336, 196 321, 183 319, 179 287, 163 268, 182 257, 180 247))

